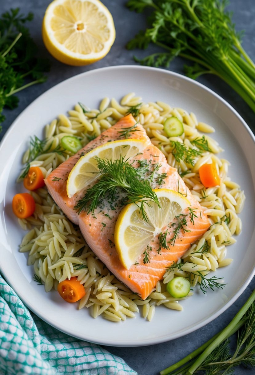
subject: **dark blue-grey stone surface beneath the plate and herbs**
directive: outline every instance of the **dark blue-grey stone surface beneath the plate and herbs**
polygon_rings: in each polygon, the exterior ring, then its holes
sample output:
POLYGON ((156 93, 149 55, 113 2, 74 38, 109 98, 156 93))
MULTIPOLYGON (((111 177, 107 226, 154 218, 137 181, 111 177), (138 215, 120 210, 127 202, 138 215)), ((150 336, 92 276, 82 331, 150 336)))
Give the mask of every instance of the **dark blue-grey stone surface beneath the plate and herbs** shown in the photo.
MULTIPOLYGON (((31 87, 19 94, 19 107, 13 111, 5 110, 6 120, 3 123, 3 132, 0 134, 0 139, 3 137, 6 130, 12 124, 13 120, 21 113, 24 108, 28 106, 34 99, 45 92, 55 84, 72 77, 73 75, 85 72, 91 69, 100 68, 110 65, 132 65, 133 51, 125 49, 126 42, 135 35, 137 31, 144 28, 145 17, 142 14, 129 12, 125 7, 126 0, 102 0, 113 15, 116 26, 116 41, 111 48, 108 55, 98 63, 85 67, 71 67, 66 66, 55 59, 53 59, 46 51, 41 37, 41 23, 44 11, 49 4, 49 0, 0 0, 1 13, 8 10, 10 7, 20 7, 24 13, 28 11, 34 12, 34 20, 30 24, 31 35, 34 37, 39 46, 40 54, 49 57, 52 63, 52 68, 48 74, 46 83, 31 87)), ((255 60, 255 1, 254 0, 231 0, 229 9, 234 12, 234 22, 237 30, 245 30, 243 37, 243 46, 248 54, 255 60)), ((147 51, 135 51, 139 57, 145 56, 154 51, 153 47, 149 47, 147 51)), ((182 73, 182 66, 184 60, 176 58, 171 64, 169 70, 182 73)), ((249 109, 248 105, 240 98, 230 87, 216 77, 204 76, 200 77, 199 81, 222 98, 227 100, 246 120, 248 125, 255 131, 255 116, 249 109)), ((253 198, 254 199, 254 198, 253 198)), ((170 364, 176 362, 182 357, 186 356, 191 351, 199 347, 203 342, 206 342, 220 329, 225 327, 234 317, 239 308, 245 303, 249 294, 255 287, 255 279, 246 288, 241 297, 217 319, 207 324, 205 327, 190 333, 182 338, 169 341, 163 344, 151 345, 148 347, 133 347, 133 348, 117 348, 107 347, 107 349, 117 354, 135 369, 139 375, 156 375, 160 370, 168 367, 170 364)), ((192 312, 191 312, 192 313, 192 312)), ((166 322, 166 326, 172 326, 174 321, 166 322)), ((148 330, 150 323, 148 323, 148 330)), ((235 371, 236 375, 251 375, 255 374, 254 369, 245 369, 239 367, 235 371)))

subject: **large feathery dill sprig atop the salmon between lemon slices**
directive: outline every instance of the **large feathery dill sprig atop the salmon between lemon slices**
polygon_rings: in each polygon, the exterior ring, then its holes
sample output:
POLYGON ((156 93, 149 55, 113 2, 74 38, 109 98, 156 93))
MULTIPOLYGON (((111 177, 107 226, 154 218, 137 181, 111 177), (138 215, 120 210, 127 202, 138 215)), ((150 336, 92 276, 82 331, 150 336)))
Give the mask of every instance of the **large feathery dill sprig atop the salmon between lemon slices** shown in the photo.
POLYGON ((157 195, 151 189, 149 181, 139 180, 136 168, 130 165, 123 156, 117 160, 99 157, 96 157, 96 160, 101 179, 87 189, 85 196, 77 202, 74 208, 78 213, 83 210, 93 213, 105 196, 114 197, 117 188, 120 187, 126 192, 129 203, 138 205, 142 219, 147 221, 145 205, 150 205, 151 202, 159 205, 157 195))

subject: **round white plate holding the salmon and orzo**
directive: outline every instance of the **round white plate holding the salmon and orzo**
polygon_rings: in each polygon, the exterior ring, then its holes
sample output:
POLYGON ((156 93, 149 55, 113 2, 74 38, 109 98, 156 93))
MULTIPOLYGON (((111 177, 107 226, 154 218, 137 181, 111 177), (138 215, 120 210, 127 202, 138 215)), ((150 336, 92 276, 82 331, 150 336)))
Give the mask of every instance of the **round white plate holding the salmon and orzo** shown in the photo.
POLYGON ((205 86, 163 69, 141 66, 114 66, 77 75, 53 87, 36 99, 12 124, 0 147, 0 259, 1 272, 18 296, 44 321, 77 338, 104 345, 140 346, 157 344, 190 333, 225 311, 245 290, 255 274, 255 139, 243 119, 223 99, 205 86), (85 308, 65 303, 58 293, 45 293, 33 281, 33 267, 27 255, 18 252, 24 232, 11 210, 11 201, 21 187, 15 184, 21 156, 29 137, 42 137, 46 123, 66 113, 78 101, 97 108, 105 96, 119 100, 135 92, 147 101, 165 101, 185 108, 216 128, 213 137, 225 149, 221 157, 230 160, 229 174, 245 190, 246 204, 240 215, 243 231, 228 248, 234 262, 218 269, 227 285, 222 291, 195 293, 182 302, 184 311, 157 308, 153 321, 137 314, 121 323, 99 317, 93 319, 85 308))

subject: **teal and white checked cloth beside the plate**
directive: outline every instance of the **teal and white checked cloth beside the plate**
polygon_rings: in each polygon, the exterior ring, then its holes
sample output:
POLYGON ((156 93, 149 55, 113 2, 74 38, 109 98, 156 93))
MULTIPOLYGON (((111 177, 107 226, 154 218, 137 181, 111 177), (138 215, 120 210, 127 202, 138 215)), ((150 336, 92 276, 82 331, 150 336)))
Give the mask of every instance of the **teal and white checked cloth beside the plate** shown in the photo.
POLYGON ((21 374, 137 375, 122 358, 30 313, 0 276, 0 375, 21 374))

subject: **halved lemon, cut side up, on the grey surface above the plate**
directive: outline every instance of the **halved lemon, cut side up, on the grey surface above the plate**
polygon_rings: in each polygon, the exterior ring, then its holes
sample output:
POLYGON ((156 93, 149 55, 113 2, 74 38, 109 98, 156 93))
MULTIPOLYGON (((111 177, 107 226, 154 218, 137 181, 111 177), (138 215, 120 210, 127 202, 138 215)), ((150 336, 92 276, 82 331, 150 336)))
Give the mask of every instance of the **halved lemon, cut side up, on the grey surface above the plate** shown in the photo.
POLYGON ((46 9, 42 36, 50 54, 62 63, 92 64, 113 45, 113 17, 99 0, 54 0, 46 9))

